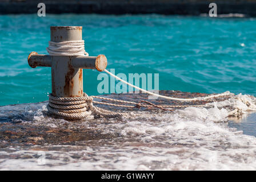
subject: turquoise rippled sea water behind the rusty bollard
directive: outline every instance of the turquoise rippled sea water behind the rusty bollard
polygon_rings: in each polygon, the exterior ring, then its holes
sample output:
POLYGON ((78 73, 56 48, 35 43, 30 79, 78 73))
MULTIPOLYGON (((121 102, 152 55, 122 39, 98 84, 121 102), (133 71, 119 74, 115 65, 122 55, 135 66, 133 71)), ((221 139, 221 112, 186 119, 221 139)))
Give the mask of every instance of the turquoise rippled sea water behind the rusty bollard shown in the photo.
MULTIPOLYGON (((0 15, 0 105, 48 100, 50 68, 30 68, 46 54, 50 26, 83 26, 86 51, 105 54, 115 73, 159 73, 159 89, 256 95, 255 18, 164 15, 0 15)), ((97 95, 99 72, 84 70, 97 95)))

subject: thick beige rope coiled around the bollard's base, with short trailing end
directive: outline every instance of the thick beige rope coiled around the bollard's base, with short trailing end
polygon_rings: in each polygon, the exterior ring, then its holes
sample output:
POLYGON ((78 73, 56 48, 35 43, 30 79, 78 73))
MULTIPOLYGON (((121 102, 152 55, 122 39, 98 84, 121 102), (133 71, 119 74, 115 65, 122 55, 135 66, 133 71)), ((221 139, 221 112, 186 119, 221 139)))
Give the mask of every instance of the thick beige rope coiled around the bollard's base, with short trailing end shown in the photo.
POLYGON ((105 110, 93 105, 93 97, 83 93, 83 97, 54 97, 49 94, 47 109, 51 114, 65 119, 94 119, 94 115, 103 117, 128 117, 133 113, 121 113, 105 110))

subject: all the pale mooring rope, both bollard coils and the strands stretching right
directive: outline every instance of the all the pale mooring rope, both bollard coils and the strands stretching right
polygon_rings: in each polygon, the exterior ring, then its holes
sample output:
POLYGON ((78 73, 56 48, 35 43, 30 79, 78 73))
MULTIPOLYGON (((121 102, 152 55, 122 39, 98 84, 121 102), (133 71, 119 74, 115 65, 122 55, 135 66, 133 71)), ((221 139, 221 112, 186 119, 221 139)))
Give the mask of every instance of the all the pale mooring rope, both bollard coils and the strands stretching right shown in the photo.
MULTIPOLYGON (((75 41, 66 41, 66 42, 51 42, 49 41, 49 47, 46 48, 47 52, 51 56, 89 56, 89 54, 85 51, 85 42, 84 40, 75 40, 75 41)), ((225 92, 222 94, 207 96, 207 97, 197 97, 197 98, 173 98, 167 96, 161 96, 159 94, 155 94, 149 92, 147 90, 141 89, 138 86, 132 85, 129 82, 122 80, 121 78, 113 75, 111 72, 105 69, 105 72, 110 76, 117 78, 117 80, 122 81, 123 83, 132 86, 135 89, 141 90, 147 94, 165 98, 167 100, 174 100, 174 101, 200 101, 200 100, 209 100, 216 97, 222 96, 230 96, 230 92, 225 92)), ((93 101, 93 97, 95 98, 102 98, 105 100, 112 100, 109 98, 104 97, 97 97, 97 96, 87 96, 86 93, 83 93, 83 97, 54 97, 52 94, 49 94, 49 104, 47 105, 47 109, 50 113, 59 115, 66 119, 92 119, 94 115, 101 115, 104 117, 119 117, 119 116, 126 116, 129 117, 134 115, 133 113, 121 113, 115 111, 109 111, 105 109, 101 109, 99 107, 95 107, 93 102, 97 104, 105 104, 105 105, 112 105, 112 106, 122 106, 122 107, 134 107, 134 106, 127 106, 127 105, 117 105, 117 104, 109 104, 106 102, 98 102, 93 101)), ((125 104, 136 104, 136 102, 128 102, 122 100, 114 100, 125 104)), ((147 102, 147 101, 145 101, 147 102)), ((150 102, 147 102, 148 105, 143 106, 155 106, 163 109, 163 107, 186 107, 186 106, 157 106, 150 102)), ((189 106, 203 106, 203 105, 189 105, 189 106)), ((167 110, 167 109, 165 109, 167 110)))

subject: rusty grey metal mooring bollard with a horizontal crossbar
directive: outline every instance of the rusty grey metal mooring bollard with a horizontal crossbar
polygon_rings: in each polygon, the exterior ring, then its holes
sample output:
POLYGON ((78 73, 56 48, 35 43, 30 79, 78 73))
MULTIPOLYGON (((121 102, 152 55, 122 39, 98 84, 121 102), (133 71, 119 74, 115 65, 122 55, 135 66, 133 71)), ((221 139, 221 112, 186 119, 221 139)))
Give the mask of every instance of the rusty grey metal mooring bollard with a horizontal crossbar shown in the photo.
MULTIPOLYGON (((82 40, 82 27, 51 27, 51 41, 82 40)), ((50 56, 31 52, 27 58, 30 67, 51 67, 51 92, 55 97, 82 97, 82 69, 107 67, 105 55, 98 56, 50 56)))

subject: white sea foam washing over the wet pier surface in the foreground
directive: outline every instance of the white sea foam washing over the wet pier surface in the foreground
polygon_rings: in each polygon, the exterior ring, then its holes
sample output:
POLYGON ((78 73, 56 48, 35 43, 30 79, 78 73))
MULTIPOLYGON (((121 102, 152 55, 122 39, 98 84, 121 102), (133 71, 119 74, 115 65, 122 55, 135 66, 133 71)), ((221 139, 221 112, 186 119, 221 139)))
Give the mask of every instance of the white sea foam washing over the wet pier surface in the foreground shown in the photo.
MULTIPOLYGON (((255 170, 256 138, 227 126, 233 107, 243 112, 254 108, 255 98, 239 94, 226 101, 208 104, 211 108, 187 107, 173 113, 144 113, 121 121, 104 118, 70 127, 86 127, 101 134, 119 137, 101 139, 94 144, 75 146, 31 146, 28 150, 0 151, 0 169, 86 169, 86 170, 255 170), (246 102, 245 102, 246 100, 246 102), (247 104, 245 104, 247 103, 247 104), (38 165, 38 149, 45 150, 46 164, 38 165), (27 157, 29 156, 29 157, 27 157), (26 159, 27 158, 27 159, 26 159)), ((67 121, 44 118, 45 104, 30 125, 60 127, 67 121)))

